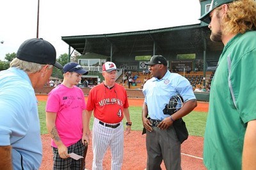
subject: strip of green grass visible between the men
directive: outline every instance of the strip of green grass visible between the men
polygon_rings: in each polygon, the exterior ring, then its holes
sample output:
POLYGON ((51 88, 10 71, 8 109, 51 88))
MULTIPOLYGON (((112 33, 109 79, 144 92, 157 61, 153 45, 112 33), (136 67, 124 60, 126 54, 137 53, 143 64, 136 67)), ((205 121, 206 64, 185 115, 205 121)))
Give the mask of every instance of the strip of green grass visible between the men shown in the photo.
MULTIPOLYGON (((45 124, 45 101, 38 102, 38 112, 40 118, 41 134, 47 134, 46 124, 45 124)), ((132 121, 132 131, 142 131, 143 125, 141 121, 141 106, 130 106, 130 117, 132 121)), ((205 122, 207 113, 192 111, 183 118, 186 122, 189 135, 192 136, 204 136, 205 122)), ((124 118, 124 122, 126 122, 124 118)), ((93 117, 90 120, 90 129, 92 129, 93 117)), ((125 126, 125 124, 124 124, 125 126)))

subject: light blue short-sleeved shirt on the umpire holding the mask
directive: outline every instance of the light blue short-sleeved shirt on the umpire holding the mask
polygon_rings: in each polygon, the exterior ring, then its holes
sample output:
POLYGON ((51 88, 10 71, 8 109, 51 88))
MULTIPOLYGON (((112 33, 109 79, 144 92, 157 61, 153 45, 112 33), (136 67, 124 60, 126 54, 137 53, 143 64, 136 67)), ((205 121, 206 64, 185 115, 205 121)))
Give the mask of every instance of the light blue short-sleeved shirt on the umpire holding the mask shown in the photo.
POLYGON ((163 120, 170 115, 164 115, 163 110, 172 96, 180 94, 184 103, 196 99, 189 81, 177 73, 167 71, 163 78, 151 78, 143 87, 145 96, 144 103, 147 104, 148 115, 152 119, 163 120))

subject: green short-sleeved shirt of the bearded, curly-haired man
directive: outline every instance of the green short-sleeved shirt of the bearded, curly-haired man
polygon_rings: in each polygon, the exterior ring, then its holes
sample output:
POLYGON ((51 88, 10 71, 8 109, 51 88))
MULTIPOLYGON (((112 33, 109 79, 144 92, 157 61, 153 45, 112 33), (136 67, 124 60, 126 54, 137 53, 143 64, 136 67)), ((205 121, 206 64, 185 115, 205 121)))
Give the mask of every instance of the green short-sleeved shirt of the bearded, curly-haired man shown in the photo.
POLYGON ((241 169, 247 122, 256 119, 255 97, 256 31, 247 31, 225 45, 212 80, 204 137, 207 169, 241 169))

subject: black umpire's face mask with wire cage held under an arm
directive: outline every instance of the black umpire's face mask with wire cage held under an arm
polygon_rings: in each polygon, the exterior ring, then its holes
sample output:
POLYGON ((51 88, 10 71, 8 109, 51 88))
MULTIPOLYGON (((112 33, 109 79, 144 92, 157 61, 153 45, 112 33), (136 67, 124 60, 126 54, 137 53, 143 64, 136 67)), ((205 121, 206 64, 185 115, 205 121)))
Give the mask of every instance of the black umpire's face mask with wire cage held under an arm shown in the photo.
POLYGON ((163 110, 164 114, 172 115, 176 111, 180 110, 180 108, 182 108, 183 103, 184 103, 184 101, 179 94, 173 95, 163 110))

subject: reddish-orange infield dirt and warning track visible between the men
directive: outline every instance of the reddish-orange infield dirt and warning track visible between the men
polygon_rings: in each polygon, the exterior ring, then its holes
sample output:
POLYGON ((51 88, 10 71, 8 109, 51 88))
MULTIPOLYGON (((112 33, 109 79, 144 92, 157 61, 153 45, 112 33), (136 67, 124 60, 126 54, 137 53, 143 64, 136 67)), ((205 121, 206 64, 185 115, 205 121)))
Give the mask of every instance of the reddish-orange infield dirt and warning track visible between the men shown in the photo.
MULTIPOLYGON (((36 96, 39 101, 46 101, 47 96, 36 96)), ((87 97, 85 97, 87 101, 87 97)), ((142 106, 143 99, 130 99, 130 106, 142 106)), ((198 102, 195 111, 208 111, 208 103, 198 102)), ((124 139, 124 162, 122 169, 124 170, 143 170, 147 163, 147 151, 145 145, 145 135, 141 135, 141 131, 132 131, 131 134, 125 136, 124 139)), ((48 134, 42 135, 43 145, 43 160, 40 167, 43 169, 52 169, 52 150, 51 138, 48 134)), ((203 138, 196 136, 189 136, 189 138, 182 143, 182 169, 206 169, 202 160, 203 138)), ((88 145, 88 152, 86 155, 86 169, 92 169, 92 143, 88 145)), ((164 164, 161 165, 162 169, 164 164)), ((106 153, 103 161, 103 169, 111 169, 111 153, 106 153)))

